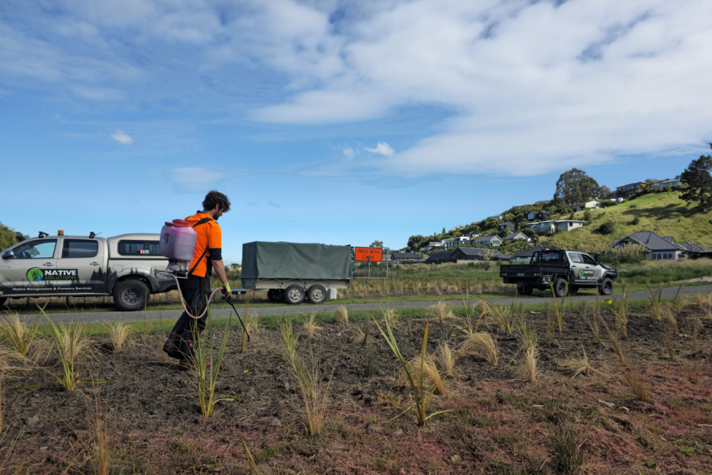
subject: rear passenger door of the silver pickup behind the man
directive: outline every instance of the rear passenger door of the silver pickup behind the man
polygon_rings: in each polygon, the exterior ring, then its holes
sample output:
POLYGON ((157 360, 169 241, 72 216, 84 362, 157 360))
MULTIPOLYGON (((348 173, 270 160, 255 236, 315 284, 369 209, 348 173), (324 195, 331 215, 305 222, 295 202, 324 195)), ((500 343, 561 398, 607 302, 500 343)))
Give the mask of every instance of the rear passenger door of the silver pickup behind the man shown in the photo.
POLYGON ((106 259, 103 239, 64 238, 58 268, 73 276, 66 291, 73 293, 106 293, 106 259))

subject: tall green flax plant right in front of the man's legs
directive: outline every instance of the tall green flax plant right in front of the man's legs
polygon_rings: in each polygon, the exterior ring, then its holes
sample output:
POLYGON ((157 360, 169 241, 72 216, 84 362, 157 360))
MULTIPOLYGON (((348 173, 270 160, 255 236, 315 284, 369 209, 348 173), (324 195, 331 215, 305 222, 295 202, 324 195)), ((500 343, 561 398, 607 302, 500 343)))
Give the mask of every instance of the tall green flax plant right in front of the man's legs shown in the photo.
MULTIPOLYGON (((192 372, 191 383, 198 393, 198 403, 203 417, 210 417, 213 414, 215 405, 221 401, 234 401, 231 397, 221 397, 216 395, 215 389, 220 375, 225 348, 227 346, 230 324, 232 323, 232 312, 225 326, 220 346, 215 353, 213 320, 210 315, 210 306, 207 307, 208 317, 206 325, 206 335, 199 335, 193 343, 193 355, 189 357, 190 371, 192 372)), ((194 322, 194 334, 198 334, 197 323, 194 322)))

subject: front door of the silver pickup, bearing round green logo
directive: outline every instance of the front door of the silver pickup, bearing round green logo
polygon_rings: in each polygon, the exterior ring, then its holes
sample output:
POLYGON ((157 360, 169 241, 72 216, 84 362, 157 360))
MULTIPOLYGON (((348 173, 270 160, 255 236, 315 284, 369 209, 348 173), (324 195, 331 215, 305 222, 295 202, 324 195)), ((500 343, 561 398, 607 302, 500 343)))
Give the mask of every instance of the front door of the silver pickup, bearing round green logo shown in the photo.
POLYGON ((52 283, 45 273, 57 266, 56 247, 57 239, 33 239, 8 249, 14 256, 0 261, 3 293, 31 295, 50 290, 52 283))

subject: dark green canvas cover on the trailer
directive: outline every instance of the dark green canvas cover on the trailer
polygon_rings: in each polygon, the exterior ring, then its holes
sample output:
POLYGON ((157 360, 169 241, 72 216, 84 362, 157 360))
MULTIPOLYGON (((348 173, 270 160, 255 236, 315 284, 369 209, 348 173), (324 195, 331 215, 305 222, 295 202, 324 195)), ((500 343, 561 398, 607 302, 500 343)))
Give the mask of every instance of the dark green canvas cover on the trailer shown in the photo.
POLYGON ((254 241, 242 245, 241 278, 354 278, 352 246, 254 241))

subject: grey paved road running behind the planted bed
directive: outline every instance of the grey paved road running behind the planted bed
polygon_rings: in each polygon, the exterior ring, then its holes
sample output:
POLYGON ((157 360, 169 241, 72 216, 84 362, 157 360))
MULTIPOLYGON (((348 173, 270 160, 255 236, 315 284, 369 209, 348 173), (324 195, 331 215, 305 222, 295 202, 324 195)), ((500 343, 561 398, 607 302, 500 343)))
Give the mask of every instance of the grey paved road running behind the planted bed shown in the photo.
MULTIPOLYGON (((663 289, 663 298, 672 298, 677 292, 677 287, 669 287, 663 289)), ((709 286, 693 286, 683 287, 680 290, 680 295, 696 296, 698 293, 712 293, 712 285, 709 286)), ((629 298, 646 298, 646 291, 631 292, 629 298)), ((527 297, 527 298, 498 298, 497 303, 546 303, 547 298, 527 297)), ((567 301, 573 302, 595 302, 596 296, 575 296, 567 298, 567 301)), ((347 303, 345 304, 348 310, 380 310, 382 306, 392 308, 422 308, 429 307, 437 303, 437 301, 428 302, 381 302, 381 303, 347 303)), ((451 306, 462 306, 461 301, 449 301, 451 306)), ((259 315, 283 315, 285 313, 310 313, 317 312, 333 312, 341 304, 328 303, 321 305, 302 304, 297 306, 275 305, 270 307, 260 307, 251 309, 251 312, 259 315)), ((240 311, 241 308, 238 308, 240 311)), ((54 323, 114 323, 114 322, 142 322, 147 320, 175 320, 178 318, 178 310, 149 310, 147 312, 81 312, 81 313, 50 313, 54 323)), ((214 317, 225 317, 230 315, 229 308, 219 308, 212 310, 211 315, 214 317)), ((21 320, 30 322, 36 315, 20 315, 21 320)))

